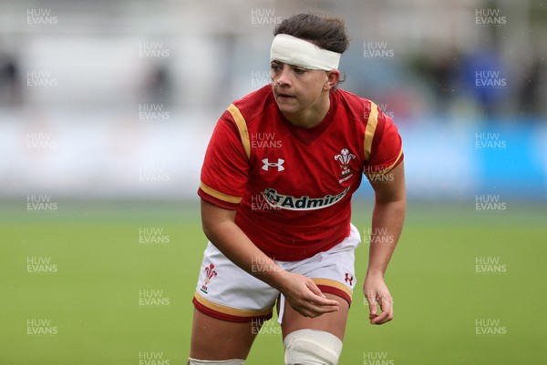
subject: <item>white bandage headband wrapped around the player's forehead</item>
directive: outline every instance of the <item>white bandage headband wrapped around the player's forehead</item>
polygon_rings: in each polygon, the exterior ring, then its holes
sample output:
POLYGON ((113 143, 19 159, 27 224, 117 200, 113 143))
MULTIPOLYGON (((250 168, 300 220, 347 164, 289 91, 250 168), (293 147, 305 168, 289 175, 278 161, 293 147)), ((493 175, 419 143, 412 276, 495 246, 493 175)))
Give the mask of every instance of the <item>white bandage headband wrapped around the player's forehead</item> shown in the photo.
POLYGON ((313 70, 338 69, 342 54, 329 51, 293 35, 275 35, 270 49, 270 61, 313 70))

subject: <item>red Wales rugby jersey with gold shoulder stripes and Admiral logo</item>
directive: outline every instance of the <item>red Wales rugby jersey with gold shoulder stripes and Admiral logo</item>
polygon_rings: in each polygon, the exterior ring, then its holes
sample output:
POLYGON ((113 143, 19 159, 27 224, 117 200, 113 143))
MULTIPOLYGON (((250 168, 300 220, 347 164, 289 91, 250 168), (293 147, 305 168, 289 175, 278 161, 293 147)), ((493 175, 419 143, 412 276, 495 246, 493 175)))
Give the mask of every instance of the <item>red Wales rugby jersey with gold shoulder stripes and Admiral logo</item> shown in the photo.
POLYGON ((397 127, 374 103, 340 89, 330 98, 319 125, 296 127, 264 86, 222 114, 207 147, 198 194, 237 209, 235 223, 273 259, 341 242, 363 173, 385 174, 403 159, 397 127))

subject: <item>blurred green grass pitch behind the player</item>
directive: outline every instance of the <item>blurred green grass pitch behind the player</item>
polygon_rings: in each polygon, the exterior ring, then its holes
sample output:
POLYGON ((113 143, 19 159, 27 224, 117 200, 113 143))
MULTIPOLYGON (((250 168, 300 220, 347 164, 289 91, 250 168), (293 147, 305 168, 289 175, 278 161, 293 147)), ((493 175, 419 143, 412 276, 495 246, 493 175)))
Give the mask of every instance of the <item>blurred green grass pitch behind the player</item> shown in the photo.
MULTIPOLYGON (((365 202, 354 205, 361 232, 370 227, 370 211, 365 202)), ((531 204, 509 202, 493 213, 409 204, 387 271, 395 319, 370 326, 357 289, 340 364, 545 363, 546 218, 531 204), (486 271, 477 269, 478 259, 486 271)), ((57 211, 29 212, 7 202, 0 241, 1 364, 185 363, 206 244, 195 204, 59 201, 57 211), (139 243, 146 240, 164 243, 139 243), (29 272, 29 258, 48 260, 57 272, 29 272), (143 289, 155 290, 156 305, 140 305, 143 289), (29 327, 57 333, 29 335, 29 327)), ((366 242, 356 258, 359 288, 366 242)), ((282 361, 272 320, 246 363, 282 361)))

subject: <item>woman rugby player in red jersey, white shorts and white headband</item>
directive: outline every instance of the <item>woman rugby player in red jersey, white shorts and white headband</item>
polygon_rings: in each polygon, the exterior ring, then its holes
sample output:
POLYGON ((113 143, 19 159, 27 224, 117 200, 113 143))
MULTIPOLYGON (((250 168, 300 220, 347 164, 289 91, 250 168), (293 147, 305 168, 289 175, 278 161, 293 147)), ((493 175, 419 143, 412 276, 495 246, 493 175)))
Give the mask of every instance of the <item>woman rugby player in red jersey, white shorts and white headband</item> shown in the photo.
POLYGON ((285 364, 337 364, 360 242, 351 197, 363 175, 376 196, 363 286, 369 320, 393 318, 384 274, 406 209, 397 127, 336 87, 343 19, 294 15, 274 35, 272 84, 228 107, 201 169, 209 243, 189 364, 243 364, 276 302, 285 364))

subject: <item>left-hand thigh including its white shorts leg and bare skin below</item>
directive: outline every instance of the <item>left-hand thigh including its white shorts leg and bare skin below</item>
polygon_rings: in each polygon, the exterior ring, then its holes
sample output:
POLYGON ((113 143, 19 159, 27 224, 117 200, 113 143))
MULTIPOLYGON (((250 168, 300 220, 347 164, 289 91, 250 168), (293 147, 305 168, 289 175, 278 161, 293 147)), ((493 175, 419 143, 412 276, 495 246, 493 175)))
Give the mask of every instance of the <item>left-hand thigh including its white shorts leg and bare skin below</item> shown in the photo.
POLYGON ((246 359, 264 320, 272 317, 277 290, 238 268, 211 243, 194 293, 190 357, 246 359))

